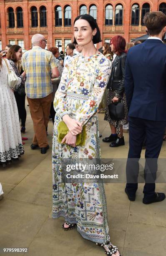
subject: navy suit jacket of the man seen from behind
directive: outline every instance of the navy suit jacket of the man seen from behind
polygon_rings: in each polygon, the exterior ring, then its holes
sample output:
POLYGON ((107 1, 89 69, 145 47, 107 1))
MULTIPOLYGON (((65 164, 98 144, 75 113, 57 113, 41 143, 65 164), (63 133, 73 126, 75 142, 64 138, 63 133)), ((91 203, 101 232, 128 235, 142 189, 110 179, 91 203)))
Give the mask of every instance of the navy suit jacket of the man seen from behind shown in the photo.
POLYGON ((125 92, 128 116, 166 121, 166 45, 159 39, 128 51, 125 92))

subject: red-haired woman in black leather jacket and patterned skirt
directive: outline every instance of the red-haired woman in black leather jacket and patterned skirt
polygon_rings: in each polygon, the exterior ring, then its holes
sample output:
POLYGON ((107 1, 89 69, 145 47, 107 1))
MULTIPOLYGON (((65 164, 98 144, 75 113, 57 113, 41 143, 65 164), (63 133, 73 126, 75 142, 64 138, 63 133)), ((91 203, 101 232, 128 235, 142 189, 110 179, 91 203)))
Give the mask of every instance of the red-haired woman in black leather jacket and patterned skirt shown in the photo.
POLYGON ((126 40, 122 36, 114 36, 111 41, 111 50, 116 54, 116 58, 112 63, 111 77, 107 88, 109 89, 106 113, 104 120, 108 121, 111 127, 111 135, 103 138, 103 142, 111 142, 110 147, 123 146, 125 144, 123 137, 123 125, 128 123, 128 109, 126 96, 124 93, 124 77, 126 64, 126 40), (124 119, 113 120, 109 115, 108 105, 111 102, 121 102, 124 104, 124 119))

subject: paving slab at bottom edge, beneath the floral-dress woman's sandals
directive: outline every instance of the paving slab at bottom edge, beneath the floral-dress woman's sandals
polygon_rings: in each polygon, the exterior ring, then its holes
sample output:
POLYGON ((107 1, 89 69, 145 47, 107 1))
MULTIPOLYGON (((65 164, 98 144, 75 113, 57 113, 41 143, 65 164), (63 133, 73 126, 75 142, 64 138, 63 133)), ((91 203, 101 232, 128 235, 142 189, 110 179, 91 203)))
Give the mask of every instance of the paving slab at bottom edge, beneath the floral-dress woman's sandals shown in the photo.
MULTIPOLYGON (((88 255, 100 256, 104 253, 103 248, 96 246, 95 243, 83 239, 76 228, 65 231, 61 228, 63 218, 57 220, 48 218, 43 227, 30 245, 30 256, 45 255, 88 255), (57 252, 57 254, 55 253, 57 252)), ((110 230, 113 241, 118 240, 119 250, 123 248, 125 232, 121 230, 110 230)))

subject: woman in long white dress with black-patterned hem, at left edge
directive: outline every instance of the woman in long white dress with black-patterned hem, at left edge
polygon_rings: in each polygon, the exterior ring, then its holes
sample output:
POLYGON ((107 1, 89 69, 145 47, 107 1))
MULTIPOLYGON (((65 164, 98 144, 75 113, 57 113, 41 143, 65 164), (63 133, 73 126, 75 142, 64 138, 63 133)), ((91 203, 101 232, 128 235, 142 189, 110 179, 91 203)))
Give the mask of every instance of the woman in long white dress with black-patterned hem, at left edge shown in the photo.
MULTIPOLYGON (((9 69, 13 70, 6 59, 9 69)), ((21 79, 18 77, 18 85, 21 79)), ((8 86, 8 68, 0 58, 0 163, 5 164, 24 154, 18 108, 14 92, 8 86)))

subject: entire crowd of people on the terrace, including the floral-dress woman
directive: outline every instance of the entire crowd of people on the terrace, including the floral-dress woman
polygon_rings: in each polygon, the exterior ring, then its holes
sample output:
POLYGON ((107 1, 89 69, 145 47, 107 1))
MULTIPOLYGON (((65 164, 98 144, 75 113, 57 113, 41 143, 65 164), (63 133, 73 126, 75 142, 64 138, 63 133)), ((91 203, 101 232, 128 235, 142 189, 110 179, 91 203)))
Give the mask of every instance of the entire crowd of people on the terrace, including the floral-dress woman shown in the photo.
MULTIPOLYGON (((25 132, 26 95, 34 128, 31 149, 47 152, 49 117, 53 120, 53 218, 64 217, 65 230, 77 227, 83 238, 112 256, 120 252, 110 241, 103 183, 62 183, 61 162, 101 158, 97 113, 104 110, 111 135, 103 142, 123 146, 123 130, 129 130, 128 199, 136 198, 138 161, 145 140, 143 203, 165 199, 164 193, 155 192, 155 179, 166 127, 166 45, 162 42, 166 16, 146 13, 143 21, 149 33, 144 43, 126 44, 122 36, 114 36, 98 51, 100 30, 86 14, 74 20, 74 41, 66 46, 66 56, 57 47, 46 51, 45 37, 35 34, 31 50, 22 54, 20 46, 8 45, 0 57, 0 163, 5 166, 24 154, 27 138, 21 133, 25 132), (8 69, 18 77, 14 88, 8 87, 8 69), (123 118, 111 115, 110 109, 118 104, 123 106, 123 118)), ((2 195, 0 184, 0 199, 2 195)))

